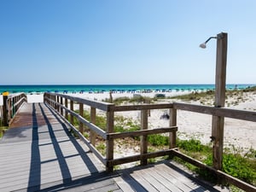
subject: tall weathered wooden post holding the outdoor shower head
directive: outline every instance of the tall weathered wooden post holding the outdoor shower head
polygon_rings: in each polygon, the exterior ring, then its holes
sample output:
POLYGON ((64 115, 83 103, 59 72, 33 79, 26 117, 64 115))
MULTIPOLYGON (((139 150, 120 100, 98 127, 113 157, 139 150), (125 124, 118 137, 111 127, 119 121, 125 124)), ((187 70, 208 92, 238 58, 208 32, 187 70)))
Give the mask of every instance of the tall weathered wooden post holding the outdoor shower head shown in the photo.
MULTIPOLYGON (((226 63, 228 34, 221 32, 217 36, 216 76, 215 76, 215 108, 223 108, 225 104, 226 63)), ((215 169, 222 170, 224 145, 224 117, 212 116, 212 164, 215 169)))

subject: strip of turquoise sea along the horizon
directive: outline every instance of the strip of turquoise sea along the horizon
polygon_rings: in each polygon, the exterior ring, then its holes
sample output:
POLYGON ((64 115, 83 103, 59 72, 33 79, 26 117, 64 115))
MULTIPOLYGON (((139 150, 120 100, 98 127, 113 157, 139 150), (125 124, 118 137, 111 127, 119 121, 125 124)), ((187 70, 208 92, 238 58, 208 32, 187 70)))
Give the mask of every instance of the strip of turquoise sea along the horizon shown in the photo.
MULTIPOLYGON (((227 84, 227 89, 243 89, 256 84, 227 84)), ((105 92, 105 91, 148 91, 148 90, 214 90, 214 84, 31 84, 0 85, 0 93, 44 93, 44 92, 105 92)))

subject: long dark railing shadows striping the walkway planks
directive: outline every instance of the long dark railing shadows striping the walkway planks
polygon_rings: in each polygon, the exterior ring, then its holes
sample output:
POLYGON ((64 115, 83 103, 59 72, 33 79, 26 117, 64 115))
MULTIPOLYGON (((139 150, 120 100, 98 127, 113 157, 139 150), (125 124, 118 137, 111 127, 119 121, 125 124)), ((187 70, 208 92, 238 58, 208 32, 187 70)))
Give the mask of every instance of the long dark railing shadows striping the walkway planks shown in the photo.
MULTIPOLYGON (((69 167, 67 165, 67 159, 71 158, 72 156, 79 155, 80 158, 83 160, 84 165, 88 167, 89 172, 94 173, 97 172, 96 166, 93 164, 93 162, 90 160, 88 155, 84 152, 84 149, 81 148, 79 143, 70 135, 70 132, 67 129, 67 125, 65 125, 63 122, 61 122, 61 119, 58 118, 55 113, 51 111, 51 114, 57 119, 59 124, 61 125, 61 128, 65 132, 65 134, 69 137, 69 143, 72 144, 74 148, 76 148, 77 152, 79 154, 74 154, 74 155, 69 155, 65 156, 64 152, 61 150, 61 144, 58 142, 57 137, 55 137, 55 125, 51 125, 49 123, 49 119, 47 118, 45 108, 42 107, 42 104, 39 103, 39 108, 41 110, 41 113, 44 117, 45 123, 48 128, 48 133, 50 137, 49 143, 53 146, 55 156, 56 158, 54 160, 57 161, 60 170, 61 170, 61 177, 62 177, 62 183, 65 185, 66 183, 72 182, 72 174, 71 171, 69 170, 69 167)), ((40 160, 40 151, 39 151, 39 138, 38 138, 38 124, 37 124, 37 115, 36 115, 36 108, 35 105, 33 104, 33 110, 32 110, 32 118, 33 118, 33 125, 32 125, 32 164, 31 164, 31 169, 30 169, 30 177, 29 177, 29 182, 28 182, 28 187, 30 186, 37 186, 33 187, 32 191, 37 191, 40 189, 40 181, 41 181, 41 160, 40 160), (36 169, 34 167, 37 167, 36 169)), ((63 141, 61 141, 63 142, 63 141)), ((66 141, 64 141, 66 142, 66 141)), ((46 143, 45 145, 48 145, 49 143, 46 143)), ((48 160, 50 162, 52 160, 48 160)))

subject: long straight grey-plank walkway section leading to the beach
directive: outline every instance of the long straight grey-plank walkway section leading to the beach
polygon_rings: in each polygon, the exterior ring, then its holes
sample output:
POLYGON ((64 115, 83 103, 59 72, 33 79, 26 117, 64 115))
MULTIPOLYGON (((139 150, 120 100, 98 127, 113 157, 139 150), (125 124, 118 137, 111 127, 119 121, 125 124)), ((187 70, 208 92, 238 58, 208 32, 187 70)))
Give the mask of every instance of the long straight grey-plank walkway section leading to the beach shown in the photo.
MULTIPOLYGON (((89 148, 74 139, 68 126, 63 126, 44 103, 25 107, 0 140, 0 191, 38 190, 104 171, 89 148)), ((118 189, 114 186, 109 189, 118 189)))

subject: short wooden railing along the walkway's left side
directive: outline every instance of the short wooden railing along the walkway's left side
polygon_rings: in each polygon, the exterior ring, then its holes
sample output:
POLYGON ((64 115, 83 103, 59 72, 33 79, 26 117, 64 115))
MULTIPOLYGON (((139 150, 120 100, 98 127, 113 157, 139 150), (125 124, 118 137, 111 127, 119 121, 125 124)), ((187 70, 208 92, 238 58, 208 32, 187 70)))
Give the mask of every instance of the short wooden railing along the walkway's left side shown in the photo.
POLYGON ((26 95, 20 94, 4 94, 3 95, 3 125, 8 126, 15 117, 15 113, 19 110, 23 102, 27 102, 26 95))

